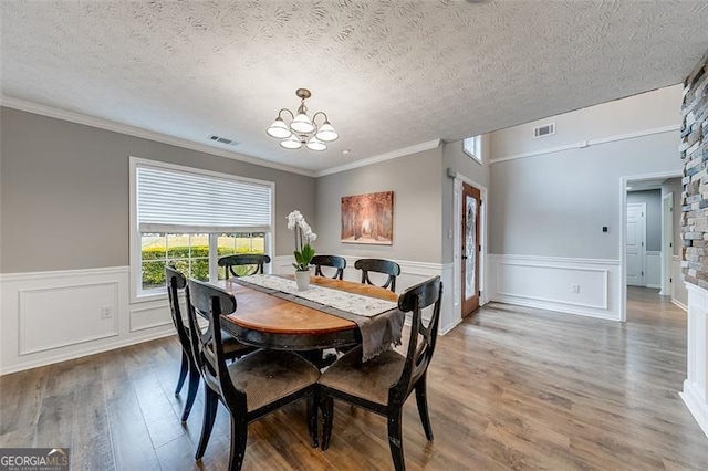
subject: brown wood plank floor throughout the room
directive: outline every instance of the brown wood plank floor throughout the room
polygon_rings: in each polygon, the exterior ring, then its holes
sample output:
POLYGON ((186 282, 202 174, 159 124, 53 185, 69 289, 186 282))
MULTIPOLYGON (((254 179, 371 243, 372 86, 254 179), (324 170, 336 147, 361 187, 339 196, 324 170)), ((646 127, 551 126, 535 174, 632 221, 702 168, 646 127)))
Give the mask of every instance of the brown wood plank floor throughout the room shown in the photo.
MULTIPOLYGON (((678 391, 686 315, 629 289, 620 324, 491 303, 438 338, 429 369, 435 441, 405 407, 409 470, 706 470, 708 438, 678 391)), ((201 393, 179 423, 179 347, 165 338, 0 378, 0 447, 71 447, 72 469, 222 470, 220 408, 201 463, 201 393)), ((384 418, 335 408, 332 443, 312 449, 304 405, 249 426, 244 469, 387 470, 384 418)))

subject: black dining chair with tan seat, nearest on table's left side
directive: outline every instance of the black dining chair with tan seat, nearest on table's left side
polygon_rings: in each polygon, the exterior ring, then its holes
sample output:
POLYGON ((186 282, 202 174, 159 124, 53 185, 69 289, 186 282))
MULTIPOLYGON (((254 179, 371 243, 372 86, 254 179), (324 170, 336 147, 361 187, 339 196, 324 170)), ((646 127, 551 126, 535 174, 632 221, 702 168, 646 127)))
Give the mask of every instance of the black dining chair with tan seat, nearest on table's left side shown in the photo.
POLYGON ((248 425, 283 406, 306 398, 308 429, 317 446, 316 383, 320 370, 292 352, 259 349, 227 366, 221 344, 221 316, 237 310, 233 295, 196 280, 187 284, 189 325, 195 360, 206 384, 204 425, 196 460, 204 456, 219 401, 231 415, 229 469, 243 463, 248 425), (205 335, 195 335, 197 313, 207 316, 205 335))

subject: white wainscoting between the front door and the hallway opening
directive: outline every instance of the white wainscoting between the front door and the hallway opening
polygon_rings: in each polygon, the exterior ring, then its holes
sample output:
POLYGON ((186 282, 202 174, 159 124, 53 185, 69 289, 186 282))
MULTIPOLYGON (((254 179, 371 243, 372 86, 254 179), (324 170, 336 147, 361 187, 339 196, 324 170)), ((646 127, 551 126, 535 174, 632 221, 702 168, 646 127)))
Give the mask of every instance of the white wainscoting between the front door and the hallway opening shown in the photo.
POLYGON ((620 260, 490 254, 487 289, 492 301, 620 321, 621 268, 620 260))

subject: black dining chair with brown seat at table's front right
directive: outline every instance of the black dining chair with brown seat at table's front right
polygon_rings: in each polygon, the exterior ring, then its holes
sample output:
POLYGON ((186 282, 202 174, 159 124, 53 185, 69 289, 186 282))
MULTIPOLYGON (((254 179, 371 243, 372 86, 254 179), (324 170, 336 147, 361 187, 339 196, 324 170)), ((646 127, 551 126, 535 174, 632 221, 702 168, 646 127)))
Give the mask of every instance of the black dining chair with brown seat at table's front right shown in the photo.
POLYGON ((334 399, 382 415, 388 419, 388 446, 396 470, 405 469, 403 452, 403 406, 416 391, 420 422, 428 441, 433 428, 428 415, 426 377, 435 352, 440 321, 442 283, 439 276, 406 290, 398 299, 398 308, 412 312, 410 336, 406 356, 387 350, 366 363, 356 348, 327 368, 320 377, 320 401, 323 416, 322 451, 330 446, 334 418, 334 399), (433 305, 430 321, 423 323, 423 310, 433 305))

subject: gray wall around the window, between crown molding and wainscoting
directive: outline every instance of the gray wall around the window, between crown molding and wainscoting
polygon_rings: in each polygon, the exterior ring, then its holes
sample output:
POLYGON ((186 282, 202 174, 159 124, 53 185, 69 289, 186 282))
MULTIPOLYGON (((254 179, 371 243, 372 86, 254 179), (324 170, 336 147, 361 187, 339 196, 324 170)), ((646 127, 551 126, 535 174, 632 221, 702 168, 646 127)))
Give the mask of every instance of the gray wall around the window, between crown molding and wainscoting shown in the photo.
POLYGON ((126 266, 128 157, 275 182, 275 254, 285 216, 316 227, 314 179, 61 119, 0 108, 0 272, 126 266))

